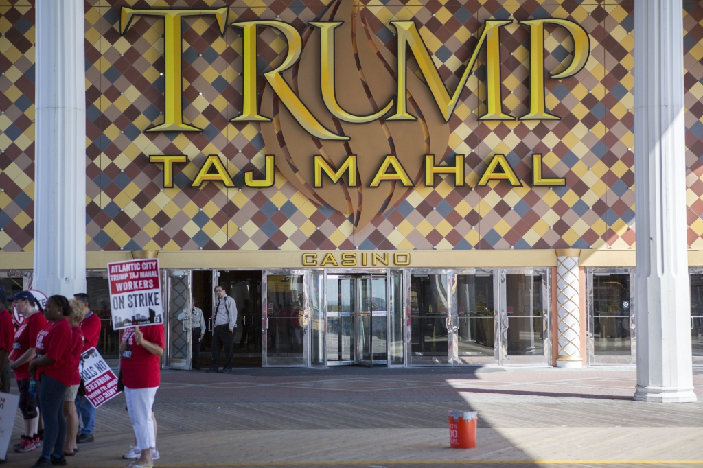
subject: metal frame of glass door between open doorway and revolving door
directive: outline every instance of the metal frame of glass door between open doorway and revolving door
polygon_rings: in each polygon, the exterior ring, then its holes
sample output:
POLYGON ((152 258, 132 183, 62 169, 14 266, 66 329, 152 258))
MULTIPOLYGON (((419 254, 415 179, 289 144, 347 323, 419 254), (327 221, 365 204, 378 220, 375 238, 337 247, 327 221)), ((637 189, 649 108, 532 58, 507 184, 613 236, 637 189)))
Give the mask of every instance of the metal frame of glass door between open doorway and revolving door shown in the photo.
POLYGON ((302 268, 262 270, 262 368, 309 368, 310 360, 310 271, 302 268), (300 275, 303 278, 303 357, 298 364, 269 363, 269 275, 300 275))

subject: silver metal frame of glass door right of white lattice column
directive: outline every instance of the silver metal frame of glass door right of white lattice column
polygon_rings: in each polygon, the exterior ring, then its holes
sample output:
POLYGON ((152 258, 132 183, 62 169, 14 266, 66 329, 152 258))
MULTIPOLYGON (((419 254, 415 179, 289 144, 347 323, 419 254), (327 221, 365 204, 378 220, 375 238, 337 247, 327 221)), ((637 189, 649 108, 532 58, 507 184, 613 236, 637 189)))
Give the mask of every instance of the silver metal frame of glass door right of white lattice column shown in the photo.
MULTIPOLYGON (((690 275, 690 273, 689 273, 690 275)), ((635 268, 586 268, 586 349, 588 351, 588 365, 637 365, 636 346, 636 306, 635 303, 635 268), (593 320, 593 273, 609 275, 629 275, 630 281, 630 356, 596 356, 595 328, 593 320)), ((690 314, 690 311, 689 311, 690 314)))

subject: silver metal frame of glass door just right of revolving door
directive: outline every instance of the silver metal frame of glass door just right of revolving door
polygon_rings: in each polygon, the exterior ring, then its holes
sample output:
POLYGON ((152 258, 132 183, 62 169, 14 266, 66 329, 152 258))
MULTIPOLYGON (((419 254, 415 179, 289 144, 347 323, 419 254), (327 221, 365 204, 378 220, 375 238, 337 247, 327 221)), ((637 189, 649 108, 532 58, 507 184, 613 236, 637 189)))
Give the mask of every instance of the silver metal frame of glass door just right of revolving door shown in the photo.
MULTIPOLYGON (((453 299, 456 295, 456 282, 454 281, 454 270, 451 268, 405 268, 404 270, 404 290, 405 290, 405 310, 406 310, 406 343, 405 343, 405 362, 406 366, 417 367, 451 367, 453 365, 454 355, 454 333, 451 326, 447 327, 447 356, 446 363, 413 363, 413 304, 411 299, 411 277, 413 275, 446 275, 446 301, 447 301, 447 318, 453 317, 453 299)), ((449 321, 447 321, 449 322, 449 321)), ((449 323, 447 323, 449 325, 449 323)))

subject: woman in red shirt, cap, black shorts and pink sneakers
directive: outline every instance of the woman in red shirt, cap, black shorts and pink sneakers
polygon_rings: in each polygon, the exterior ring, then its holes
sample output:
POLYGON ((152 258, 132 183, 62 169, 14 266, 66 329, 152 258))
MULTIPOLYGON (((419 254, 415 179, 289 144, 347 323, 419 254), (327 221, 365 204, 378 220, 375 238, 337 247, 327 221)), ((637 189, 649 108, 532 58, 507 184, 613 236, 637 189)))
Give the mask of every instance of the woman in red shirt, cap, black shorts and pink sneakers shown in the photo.
POLYGON ((20 411, 25 420, 25 435, 20 443, 15 445, 15 452, 24 453, 36 450, 40 446, 39 412, 37 411, 37 394, 30 389, 29 362, 37 356, 34 347, 37 344, 37 334, 46 325, 46 318, 39 313, 43 312, 39 301, 29 291, 22 291, 8 298, 15 301, 15 309, 22 314, 24 320, 15 332, 15 342, 10 354, 10 368, 15 371, 15 380, 20 389, 20 411), (34 306, 39 308, 39 311, 34 306))

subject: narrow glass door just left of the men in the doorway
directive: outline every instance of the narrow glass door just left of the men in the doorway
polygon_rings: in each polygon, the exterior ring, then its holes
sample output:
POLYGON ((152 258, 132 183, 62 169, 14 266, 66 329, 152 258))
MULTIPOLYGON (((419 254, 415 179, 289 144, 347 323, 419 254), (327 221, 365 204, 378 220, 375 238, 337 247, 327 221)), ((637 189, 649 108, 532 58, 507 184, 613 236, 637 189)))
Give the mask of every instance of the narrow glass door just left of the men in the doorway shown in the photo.
POLYGON ((191 271, 165 271, 165 333, 169 369, 190 369, 192 353, 191 271))

